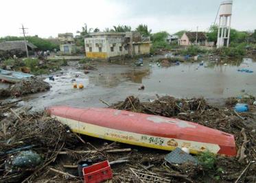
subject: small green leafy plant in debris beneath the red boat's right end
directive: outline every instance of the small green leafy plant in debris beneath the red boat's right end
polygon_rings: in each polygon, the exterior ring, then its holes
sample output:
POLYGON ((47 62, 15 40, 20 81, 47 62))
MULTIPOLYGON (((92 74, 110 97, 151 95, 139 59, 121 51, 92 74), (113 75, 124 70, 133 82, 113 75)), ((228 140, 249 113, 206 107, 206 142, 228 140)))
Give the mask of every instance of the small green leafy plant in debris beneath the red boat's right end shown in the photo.
POLYGON ((204 169, 213 170, 216 164, 216 155, 206 151, 198 155, 198 160, 204 169))

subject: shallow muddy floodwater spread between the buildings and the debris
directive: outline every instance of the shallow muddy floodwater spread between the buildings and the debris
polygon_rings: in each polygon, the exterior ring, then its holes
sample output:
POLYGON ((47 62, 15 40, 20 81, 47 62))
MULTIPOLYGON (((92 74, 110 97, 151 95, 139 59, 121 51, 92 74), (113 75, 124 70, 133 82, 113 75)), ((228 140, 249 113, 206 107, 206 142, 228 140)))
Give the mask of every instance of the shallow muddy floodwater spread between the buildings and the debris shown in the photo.
MULTIPOLYGON (((174 97, 205 97, 222 100, 226 97, 256 93, 256 62, 244 58, 233 64, 204 62, 173 64, 169 67, 157 66, 144 59, 143 66, 134 66, 132 62, 97 64, 97 70, 85 75, 78 69, 78 62, 69 62, 69 66, 54 74, 51 90, 23 97, 25 103, 34 110, 47 106, 106 106, 100 102, 115 103, 135 95, 141 100, 154 99, 159 95, 174 97), (249 69, 253 73, 237 71, 249 69), (75 77, 79 75, 79 77, 75 77), (83 84, 84 89, 73 88, 73 81, 83 84), (138 90, 143 85, 145 90, 138 90)), ((3 85, 1 87, 4 87, 3 85)))

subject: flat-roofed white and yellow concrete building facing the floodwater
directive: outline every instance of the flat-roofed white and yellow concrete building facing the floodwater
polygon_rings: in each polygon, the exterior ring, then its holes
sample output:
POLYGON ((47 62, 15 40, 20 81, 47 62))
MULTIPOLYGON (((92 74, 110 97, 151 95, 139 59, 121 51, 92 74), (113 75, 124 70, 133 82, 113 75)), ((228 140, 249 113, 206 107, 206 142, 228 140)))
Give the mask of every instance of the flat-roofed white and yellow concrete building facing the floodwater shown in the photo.
POLYGON ((95 32, 84 38, 86 57, 118 58, 150 53, 150 37, 139 32, 95 32))

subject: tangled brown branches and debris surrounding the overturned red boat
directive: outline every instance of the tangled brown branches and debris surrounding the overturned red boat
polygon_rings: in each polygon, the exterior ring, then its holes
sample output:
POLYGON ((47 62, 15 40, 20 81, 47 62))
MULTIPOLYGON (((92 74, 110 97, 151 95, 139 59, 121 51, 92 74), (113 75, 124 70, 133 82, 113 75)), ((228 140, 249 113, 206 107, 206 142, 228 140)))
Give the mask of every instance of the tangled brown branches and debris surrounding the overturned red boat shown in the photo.
POLYGON ((24 106, 22 110, 17 108, 17 103, 19 101, 1 102, 0 106, 0 182, 81 182, 78 163, 88 159, 93 163, 108 160, 113 182, 253 182, 256 134, 252 132, 255 127, 246 125, 246 121, 255 119, 256 108, 251 104, 248 104, 248 112, 240 113, 246 118, 244 120, 233 112, 233 106, 216 108, 202 98, 176 99, 157 95, 152 102, 141 102, 130 96, 110 106, 177 117, 235 135, 240 152, 236 158, 202 154, 194 156, 199 164, 170 164, 164 160, 167 151, 79 136, 43 112, 32 113, 24 106), (33 151, 42 161, 36 167, 5 169, 5 160, 21 151, 33 151))

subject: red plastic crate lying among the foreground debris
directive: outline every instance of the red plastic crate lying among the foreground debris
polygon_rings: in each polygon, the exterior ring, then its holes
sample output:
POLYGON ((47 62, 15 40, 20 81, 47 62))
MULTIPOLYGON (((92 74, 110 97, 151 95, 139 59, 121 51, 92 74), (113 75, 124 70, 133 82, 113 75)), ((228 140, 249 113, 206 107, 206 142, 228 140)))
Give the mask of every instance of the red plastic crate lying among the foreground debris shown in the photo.
POLYGON ((98 183, 113 178, 113 173, 108 161, 99 162, 82 169, 84 183, 98 183))

